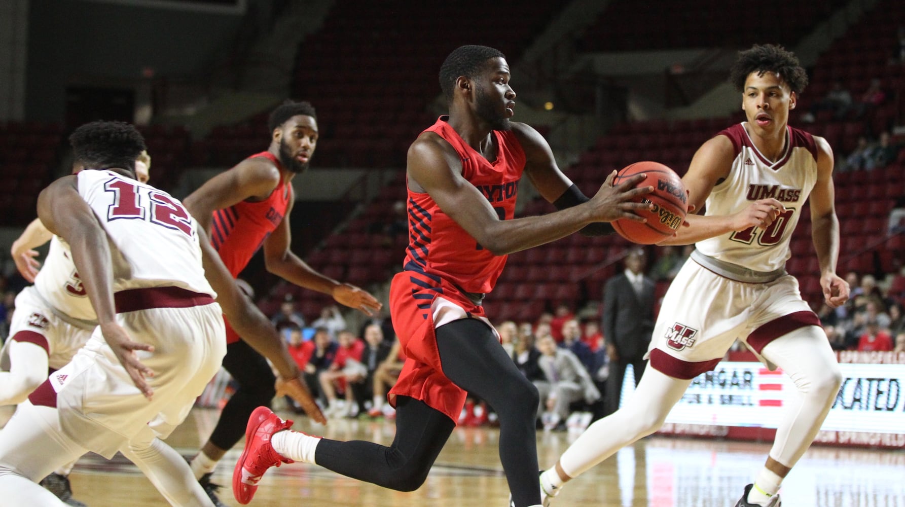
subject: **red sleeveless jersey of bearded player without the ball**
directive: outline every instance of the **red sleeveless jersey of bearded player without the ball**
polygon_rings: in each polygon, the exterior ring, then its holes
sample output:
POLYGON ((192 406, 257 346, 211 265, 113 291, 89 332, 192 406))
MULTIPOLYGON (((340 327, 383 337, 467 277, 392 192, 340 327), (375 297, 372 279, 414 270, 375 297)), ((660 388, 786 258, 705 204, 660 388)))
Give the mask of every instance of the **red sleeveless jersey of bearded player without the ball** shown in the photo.
MULTIPOLYGON (((249 158, 270 158, 282 170, 280 161, 269 151, 249 158)), ((261 248, 286 215, 292 196, 291 186, 281 181, 270 196, 259 202, 242 201, 214 211, 211 221, 211 244, 233 278, 245 269, 252 255, 261 248)))

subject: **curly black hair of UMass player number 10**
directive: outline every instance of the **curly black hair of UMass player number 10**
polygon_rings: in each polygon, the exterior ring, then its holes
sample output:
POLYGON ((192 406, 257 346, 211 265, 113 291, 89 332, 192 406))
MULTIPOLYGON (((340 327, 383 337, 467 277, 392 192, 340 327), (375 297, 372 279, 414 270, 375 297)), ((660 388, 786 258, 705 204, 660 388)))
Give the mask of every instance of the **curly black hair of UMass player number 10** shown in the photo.
POLYGON ((751 72, 758 75, 776 72, 796 94, 805 91, 807 86, 807 73, 798 63, 798 57, 781 45, 754 44, 751 49, 738 52, 738 60, 729 71, 729 82, 736 90, 744 91, 745 81, 751 72))

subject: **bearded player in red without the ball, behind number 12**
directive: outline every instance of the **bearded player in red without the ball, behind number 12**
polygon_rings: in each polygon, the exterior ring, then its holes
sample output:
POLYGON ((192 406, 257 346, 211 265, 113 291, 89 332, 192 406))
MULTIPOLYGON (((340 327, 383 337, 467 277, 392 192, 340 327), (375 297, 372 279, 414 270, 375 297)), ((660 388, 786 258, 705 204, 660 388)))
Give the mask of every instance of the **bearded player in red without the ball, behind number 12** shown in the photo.
MULTIPOLYGON (((186 197, 186 207, 205 227, 233 277, 263 246, 269 272, 301 287, 331 294, 336 301, 371 315, 381 306, 374 296, 323 276, 290 250, 291 181, 308 168, 318 143, 314 108, 308 102, 287 101, 271 112, 268 128, 271 146, 267 151, 211 178, 186 197)), ((252 349, 242 338, 226 322, 223 365, 239 388, 226 403, 214 433, 192 461, 195 477, 205 486, 217 462, 242 438, 252 410, 269 406, 276 394, 275 378, 262 354, 274 363, 281 380, 291 380, 296 388, 304 385, 297 380, 298 367, 285 346, 252 343, 252 349)), ((314 419, 324 422, 313 401, 303 407, 314 419)))

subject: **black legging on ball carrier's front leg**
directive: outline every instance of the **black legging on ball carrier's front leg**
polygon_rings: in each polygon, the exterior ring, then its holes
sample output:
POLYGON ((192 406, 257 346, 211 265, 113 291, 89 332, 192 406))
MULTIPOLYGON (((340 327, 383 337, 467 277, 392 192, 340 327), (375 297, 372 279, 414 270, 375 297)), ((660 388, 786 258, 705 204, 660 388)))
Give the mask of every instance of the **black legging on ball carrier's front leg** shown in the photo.
POLYGON ((540 503, 535 419, 538 388, 516 368, 481 320, 455 320, 437 328, 443 373, 486 401, 500 417, 500 461, 515 507, 540 503))

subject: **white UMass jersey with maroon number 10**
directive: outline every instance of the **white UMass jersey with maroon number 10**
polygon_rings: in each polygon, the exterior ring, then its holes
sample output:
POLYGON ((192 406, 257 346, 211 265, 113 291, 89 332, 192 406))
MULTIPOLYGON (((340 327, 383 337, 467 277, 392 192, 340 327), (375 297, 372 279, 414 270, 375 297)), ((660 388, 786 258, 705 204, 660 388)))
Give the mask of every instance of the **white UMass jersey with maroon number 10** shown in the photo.
POLYGON ((757 272, 779 269, 791 256, 789 240, 807 196, 817 181, 817 148, 811 134, 786 128, 786 152, 770 162, 754 146, 745 123, 733 125, 718 135, 732 141, 736 157, 729 176, 713 187, 705 215, 738 213, 758 199, 773 197, 786 212, 766 230, 756 227, 712 237, 696 244, 700 253, 757 272))

